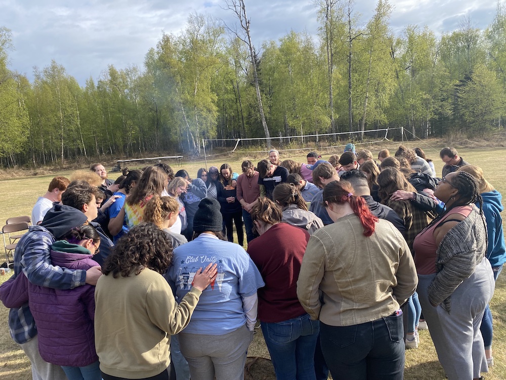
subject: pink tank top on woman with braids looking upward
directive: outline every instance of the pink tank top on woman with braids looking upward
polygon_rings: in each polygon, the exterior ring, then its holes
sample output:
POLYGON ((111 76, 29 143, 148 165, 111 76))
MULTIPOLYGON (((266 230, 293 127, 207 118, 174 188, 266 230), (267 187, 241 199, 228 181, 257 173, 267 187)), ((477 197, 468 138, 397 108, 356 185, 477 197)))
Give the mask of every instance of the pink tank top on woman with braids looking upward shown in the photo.
MULTIPOLYGON (((450 213, 467 217, 472 209, 472 206, 457 206, 450 213)), ((437 272, 436 251, 438 247, 436 247, 434 230, 447 219, 448 216, 416 235, 413 242, 414 264, 416 265, 416 272, 419 275, 432 275, 437 272)))

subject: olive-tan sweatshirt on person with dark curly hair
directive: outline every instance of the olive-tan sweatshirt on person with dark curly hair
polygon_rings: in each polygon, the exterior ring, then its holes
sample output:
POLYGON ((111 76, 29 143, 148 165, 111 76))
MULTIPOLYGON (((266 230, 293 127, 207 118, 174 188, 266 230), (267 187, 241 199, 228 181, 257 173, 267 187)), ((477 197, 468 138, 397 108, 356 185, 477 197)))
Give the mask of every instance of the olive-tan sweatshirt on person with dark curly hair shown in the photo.
POLYGON ((178 305, 165 279, 152 270, 137 276, 101 276, 95 290, 100 369, 126 378, 165 370, 170 364, 170 335, 188 325, 201 293, 192 288, 178 305))

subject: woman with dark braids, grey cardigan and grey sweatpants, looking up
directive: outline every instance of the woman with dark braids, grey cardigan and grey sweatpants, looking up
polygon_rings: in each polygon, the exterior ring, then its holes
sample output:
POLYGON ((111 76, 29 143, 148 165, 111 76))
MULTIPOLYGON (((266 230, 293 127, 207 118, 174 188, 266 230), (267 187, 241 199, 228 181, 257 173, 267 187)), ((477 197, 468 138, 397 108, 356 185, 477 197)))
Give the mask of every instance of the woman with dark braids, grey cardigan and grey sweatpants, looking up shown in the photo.
POLYGON ((446 210, 414 240, 417 291, 448 378, 478 379, 488 371, 480 324, 494 292, 479 185, 469 173, 449 173, 434 195, 446 210))

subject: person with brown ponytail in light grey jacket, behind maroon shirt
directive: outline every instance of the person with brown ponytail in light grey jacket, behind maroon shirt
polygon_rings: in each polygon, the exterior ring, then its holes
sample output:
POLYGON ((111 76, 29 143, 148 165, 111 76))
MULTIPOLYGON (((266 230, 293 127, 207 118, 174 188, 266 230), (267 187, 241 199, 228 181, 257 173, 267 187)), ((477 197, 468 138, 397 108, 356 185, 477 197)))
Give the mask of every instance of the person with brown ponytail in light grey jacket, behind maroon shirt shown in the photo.
POLYGON ((312 235, 323 227, 323 221, 315 213, 308 211, 301 192, 292 183, 280 183, 274 187, 272 199, 281 208, 282 221, 301 227, 312 235))

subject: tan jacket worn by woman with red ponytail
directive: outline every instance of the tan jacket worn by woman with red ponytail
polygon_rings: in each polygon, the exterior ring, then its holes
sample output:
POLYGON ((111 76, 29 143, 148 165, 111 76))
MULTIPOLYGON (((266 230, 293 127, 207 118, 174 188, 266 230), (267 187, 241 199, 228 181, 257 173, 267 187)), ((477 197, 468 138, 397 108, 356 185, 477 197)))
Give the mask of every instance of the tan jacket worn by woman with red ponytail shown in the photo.
POLYGON ((411 252, 393 224, 379 219, 366 237, 351 214, 311 236, 297 295, 312 319, 351 326, 393 314, 417 283, 411 252))

